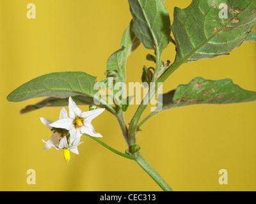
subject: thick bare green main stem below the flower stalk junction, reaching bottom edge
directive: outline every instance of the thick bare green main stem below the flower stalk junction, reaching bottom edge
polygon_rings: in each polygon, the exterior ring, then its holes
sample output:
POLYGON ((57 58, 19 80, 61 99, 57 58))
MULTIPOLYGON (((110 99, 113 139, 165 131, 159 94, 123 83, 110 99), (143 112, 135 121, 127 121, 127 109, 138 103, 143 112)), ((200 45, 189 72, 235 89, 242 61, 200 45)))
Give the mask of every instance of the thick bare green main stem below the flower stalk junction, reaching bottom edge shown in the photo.
POLYGON ((148 175, 163 189, 163 191, 173 191, 173 189, 167 184, 167 182, 157 173, 156 170, 144 159, 140 152, 136 153, 135 158, 136 163, 138 163, 143 170, 145 170, 148 175))

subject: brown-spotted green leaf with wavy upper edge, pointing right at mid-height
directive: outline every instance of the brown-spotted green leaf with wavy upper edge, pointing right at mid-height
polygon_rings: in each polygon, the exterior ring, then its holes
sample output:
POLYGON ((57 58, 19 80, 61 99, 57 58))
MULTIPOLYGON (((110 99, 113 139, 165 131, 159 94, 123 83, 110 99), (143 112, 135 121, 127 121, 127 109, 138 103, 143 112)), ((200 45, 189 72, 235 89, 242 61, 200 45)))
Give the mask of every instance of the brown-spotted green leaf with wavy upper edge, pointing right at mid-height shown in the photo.
POLYGON ((163 109, 196 104, 229 104, 255 101, 256 92, 246 91, 230 79, 193 79, 189 84, 163 94, 163 109))

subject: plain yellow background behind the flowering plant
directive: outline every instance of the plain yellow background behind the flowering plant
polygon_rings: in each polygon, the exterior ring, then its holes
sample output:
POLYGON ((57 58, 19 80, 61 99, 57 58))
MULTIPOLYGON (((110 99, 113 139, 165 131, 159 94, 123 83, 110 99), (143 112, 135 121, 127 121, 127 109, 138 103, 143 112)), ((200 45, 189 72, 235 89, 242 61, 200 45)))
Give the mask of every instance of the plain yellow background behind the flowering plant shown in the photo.
MULTIPOLYGON (((166 1, 185 8, 191 1, 166 1)), ((20 115, 33 99, 9 103, 6 96, 19 85, 58 71, 84 71, 104 78, 106 61, 120 46, 131 20, 127 0, 6 0, 0 1, 1 70, 1 191, 159 191, 147 173, 133 161, 117 156, 90 138, 79 146, 70 163, 62 150, 42 150, 51 131, 39 117, 57 120, 61 108, 43 108, 20 115), (36 19, 28 19, 26 5, 36 5, 36 19), (36 184, 28 185, 28 169, 36 184)), ((127 61, 127 82, 140 82, 145 56, 142 45, 127 61), (136 74, 138 73, 138 74, 136 74)), ((244 43, 231 55, 184 64, 163 85, 164 92, 195 77, 232 78, 244 89, 256 91, 255 43, 244 43)), ((169 45, 163 60, 175 57, 169 45)), ((88 106, 80 106, 83 111, 88 106)), ((127 123, 136 110, 125 112, 127 123)), ((148 113, 148 112, 147 112, 148 113)), ((236 105, 199 105, 177 108, 149 120, 138 133, 147 161, 175 191, 256 190, 256 102, 236 105), (228 184, 220 185, 220 169, 228 184)), ((116 119, 108 112, 92 122, 102 140, 122 152, 126 149, 116 119)))

